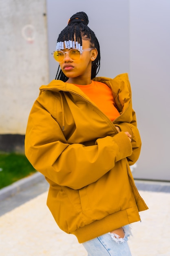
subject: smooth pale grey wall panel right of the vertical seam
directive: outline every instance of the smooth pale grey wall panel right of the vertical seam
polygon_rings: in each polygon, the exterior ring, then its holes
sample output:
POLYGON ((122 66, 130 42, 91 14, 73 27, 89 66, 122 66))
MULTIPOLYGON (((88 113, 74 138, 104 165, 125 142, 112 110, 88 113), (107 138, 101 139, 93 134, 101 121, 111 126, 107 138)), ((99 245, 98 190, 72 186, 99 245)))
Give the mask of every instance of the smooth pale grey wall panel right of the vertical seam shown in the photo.
POLYGON ((130 0, 130 81, 143 142, 134 176, 170 180, 169 0, 130 0))

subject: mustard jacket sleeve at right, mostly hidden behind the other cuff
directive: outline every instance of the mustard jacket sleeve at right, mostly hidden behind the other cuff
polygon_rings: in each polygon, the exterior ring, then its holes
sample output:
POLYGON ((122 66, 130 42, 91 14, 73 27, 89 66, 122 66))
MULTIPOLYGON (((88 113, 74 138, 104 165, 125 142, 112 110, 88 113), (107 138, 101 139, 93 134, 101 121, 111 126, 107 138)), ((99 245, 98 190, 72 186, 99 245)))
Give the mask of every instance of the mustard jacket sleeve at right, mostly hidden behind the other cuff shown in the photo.
POLYGON ((141 152, 141 137, 137 128, 135 111, 132 109, 132 121, 130 123, 121 122, 118 125, 116 124, 116 126, 118 126, 123 132, 129 132, 132 136, 132 155, 128 156, 127 160, 129 165, 133 165, 135 162, 137 162, 141 152))

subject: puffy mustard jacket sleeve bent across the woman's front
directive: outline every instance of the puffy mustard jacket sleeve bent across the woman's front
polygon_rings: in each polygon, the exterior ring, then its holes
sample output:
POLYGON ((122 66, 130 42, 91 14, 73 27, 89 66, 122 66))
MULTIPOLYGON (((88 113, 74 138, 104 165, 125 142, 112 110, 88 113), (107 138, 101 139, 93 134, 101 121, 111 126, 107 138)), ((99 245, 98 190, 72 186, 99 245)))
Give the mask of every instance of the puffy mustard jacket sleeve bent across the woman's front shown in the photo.
POLYGON ((35 101, 26 128, 25 155, 49 180, 80 189, 98 180, 115 162, 131 154, 132 146, 124 132, 99 138, 93 146, 68 144, 51 112, 38 99, 35 101))

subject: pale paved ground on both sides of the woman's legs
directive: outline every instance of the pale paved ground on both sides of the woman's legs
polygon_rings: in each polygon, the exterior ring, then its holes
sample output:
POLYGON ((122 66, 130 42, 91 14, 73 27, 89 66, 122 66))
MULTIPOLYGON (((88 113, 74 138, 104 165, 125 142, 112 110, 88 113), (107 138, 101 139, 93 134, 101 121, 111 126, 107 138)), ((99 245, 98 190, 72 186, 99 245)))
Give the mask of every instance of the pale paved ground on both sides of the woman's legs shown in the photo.
MULTIPOLYGON (((149 210, 140 213, 142 222, 132 224, 132 256, 170 256, 170 184, 137 186, 149 210)), ((42 180, 0 202, 0 256, 87 256, 75 236, 55 224, 46 207, 47 190, 42 180)))

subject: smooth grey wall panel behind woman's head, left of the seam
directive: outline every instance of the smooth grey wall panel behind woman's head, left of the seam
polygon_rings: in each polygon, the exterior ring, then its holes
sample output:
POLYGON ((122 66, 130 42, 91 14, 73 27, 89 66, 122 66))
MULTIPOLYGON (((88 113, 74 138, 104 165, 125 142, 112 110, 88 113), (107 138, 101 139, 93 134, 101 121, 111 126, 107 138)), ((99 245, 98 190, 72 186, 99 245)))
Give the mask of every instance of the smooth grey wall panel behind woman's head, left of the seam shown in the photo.
POLYGON ((47 0, 50 80, 55 79, 58 64, 51 53, 57 37, 68 19, 78 11, 89 18, 88 26, 95 32, 101 48, 99 76, 114 77, 129 72, 129 1, 128 0, 47 0), (58 11, 59 10, 59 11, 58 11))

